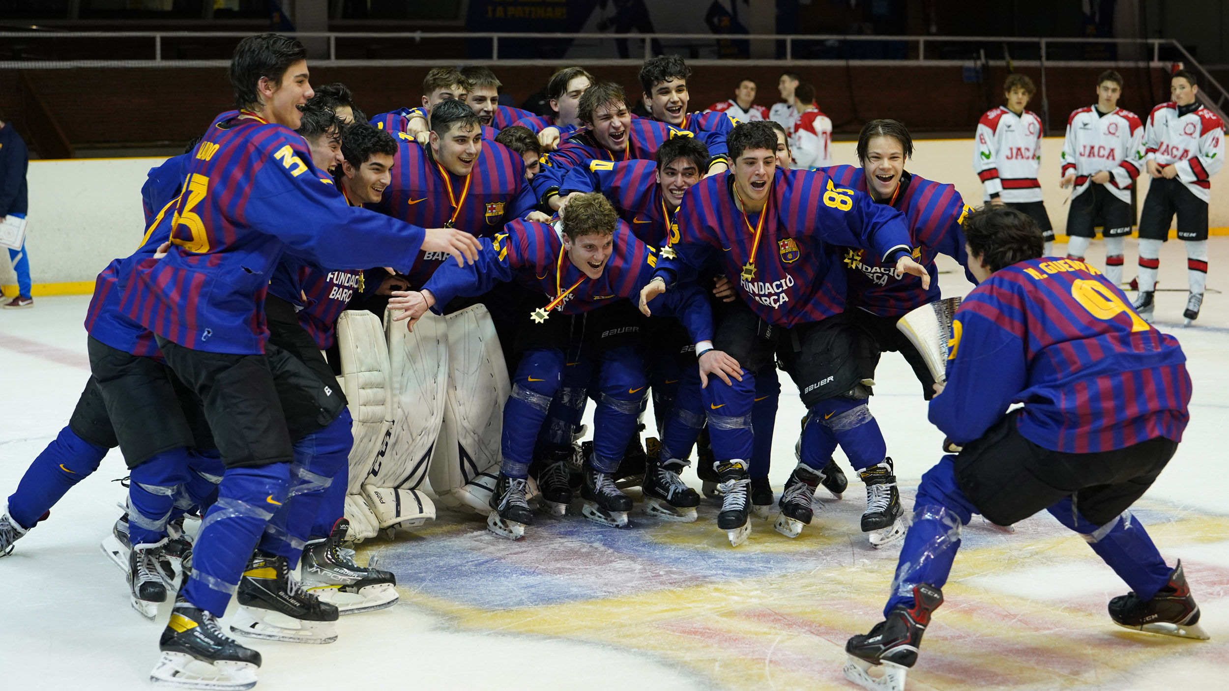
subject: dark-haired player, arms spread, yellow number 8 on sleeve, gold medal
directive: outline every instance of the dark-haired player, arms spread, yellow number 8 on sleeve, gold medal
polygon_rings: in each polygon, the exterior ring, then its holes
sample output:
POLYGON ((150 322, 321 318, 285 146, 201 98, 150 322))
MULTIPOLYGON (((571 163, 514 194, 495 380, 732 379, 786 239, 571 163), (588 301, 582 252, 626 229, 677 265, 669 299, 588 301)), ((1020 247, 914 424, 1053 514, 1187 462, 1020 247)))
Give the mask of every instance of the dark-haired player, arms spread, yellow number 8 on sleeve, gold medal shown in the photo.
POLYGON ((708 262, 740 277, 741 300, 725 311, 713 341, 741 365, 740 377, 710 380, 703 391, 725 489, 718 527, 736 546, 751 530, 747 462, 756 375, 773 368, 774 359, 811 411, 807 427, 830 423, 850 454, 884 449, 862 384, 874 373, 874 343, 842 314, 846 278, 834 246, 869 250, 897 272, 922 277, 923 288, 930 275, 909 257, 909 231, 898 210, 837 188, 821 172, 777 168, 777 133, 768 123, 740 124, 726 143, 732 172, 687 191, 675 216, 678 241, 671 247, 677 256, 659 264, 642 295, 653 299, 691 280, 708 262), (833 423, 837 418, 841 424, 833 423))

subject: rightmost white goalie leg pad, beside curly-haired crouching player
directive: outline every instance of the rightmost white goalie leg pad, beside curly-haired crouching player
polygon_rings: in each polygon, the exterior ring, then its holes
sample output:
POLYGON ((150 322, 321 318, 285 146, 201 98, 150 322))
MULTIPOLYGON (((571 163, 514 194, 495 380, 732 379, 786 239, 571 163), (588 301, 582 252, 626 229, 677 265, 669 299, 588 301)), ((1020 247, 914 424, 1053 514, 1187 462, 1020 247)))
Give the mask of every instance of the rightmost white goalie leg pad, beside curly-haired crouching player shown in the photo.
POLYGON ((472 507, 463 497, 466 486, 481 473, 498 475, 511 382, 485 305, 466 307, 444 321, 449 337, 444 419, 428 478, 445 505, 467 509, 472 507))

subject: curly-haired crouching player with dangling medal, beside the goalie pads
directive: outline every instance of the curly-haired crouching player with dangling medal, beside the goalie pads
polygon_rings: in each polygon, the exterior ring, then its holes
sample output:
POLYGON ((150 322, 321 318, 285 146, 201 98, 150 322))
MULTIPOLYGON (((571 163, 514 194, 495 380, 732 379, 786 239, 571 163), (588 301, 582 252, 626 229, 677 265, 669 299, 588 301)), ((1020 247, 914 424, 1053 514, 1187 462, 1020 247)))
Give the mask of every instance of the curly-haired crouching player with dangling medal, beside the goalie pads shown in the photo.
MULTIPOLYGON (((497 282, 515 279, 546 294, 535 296, 522 310, 525 323, 516 342, 520 364, 504 408, 503 462, 490 499, 495 513, 488 526, 514 540, 524 536, 532 521, 525 499, 528 466, 551 401, 560 389, 584 391, 590 379, 583 364, 587 359, 597 366, 599 405, 594 454, 585 460, 583 513, 595 523, 626 527, 632 509, 632 499, 614 487, 611 476, 635 433, 648 379, 638 339, 627 338, 640 332, 643 317, 619 298, 634 300, 639 295, 651 278, 656 253, 635 237, 601 194, 569 199, 560 227, 557 232, 546 224, 512 221, 493 240, 482 240, 472 268, 444 266, 422 293, 395 293, 398 298, 388 302, 390 309, 407 310, 396 318, 413 323, 428 307, 440 311, 455 295, 477 295, 497 282)), ((701 360, 702 376, 737 373, 732 360, 712 350, 712 314, 698 288, 678 290, 653 307, 680 315, 697 350, 712 352, 701 360)), ((583 403, 584 396, 579 398, 583 403)), ((570 433, 570 424, 567 427, 570 433)))

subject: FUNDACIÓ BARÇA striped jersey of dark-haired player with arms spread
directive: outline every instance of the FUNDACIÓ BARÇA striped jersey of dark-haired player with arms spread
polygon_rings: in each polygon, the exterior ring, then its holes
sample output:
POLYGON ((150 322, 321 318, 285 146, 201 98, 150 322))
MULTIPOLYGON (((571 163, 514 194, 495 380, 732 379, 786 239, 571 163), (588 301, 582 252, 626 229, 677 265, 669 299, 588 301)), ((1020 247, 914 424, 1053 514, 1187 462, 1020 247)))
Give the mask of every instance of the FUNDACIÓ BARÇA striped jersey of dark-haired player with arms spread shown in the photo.
POLYGON ((836 246, 863 247, 890 263, 909 253, 903 214, 864 192, 837 189, 819 171, 777 168, 768 205, 747 215, 735 205, 734 175, 709 176, 683 195, 675 227, 670 246, 677 257, 662 259, 658 269, 667 284, 694 280, 713 262, 752 311, 780 326, 844 311, 846 277, 836 246), (744 278, 752 257, 755 275, 744 278))

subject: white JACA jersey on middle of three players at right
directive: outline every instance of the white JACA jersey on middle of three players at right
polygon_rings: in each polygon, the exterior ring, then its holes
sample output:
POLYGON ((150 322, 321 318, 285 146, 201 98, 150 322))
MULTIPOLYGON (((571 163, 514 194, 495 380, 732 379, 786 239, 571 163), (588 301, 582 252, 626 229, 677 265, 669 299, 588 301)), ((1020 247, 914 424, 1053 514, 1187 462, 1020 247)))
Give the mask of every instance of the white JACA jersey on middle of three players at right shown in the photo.
POLYGON ((1101 114, 1096 106, 1074 111, 1067 118, 1067 140, 1063 143, 1061 177, 1075 173, 1072 198, 1079 197, 1094 183, 1091 177, 1110 171, 1104 183, 1115 197, 1131 203, 1131 186, 1143 167, 1144 124, 1131 111, 1116 108, 1101 114))

